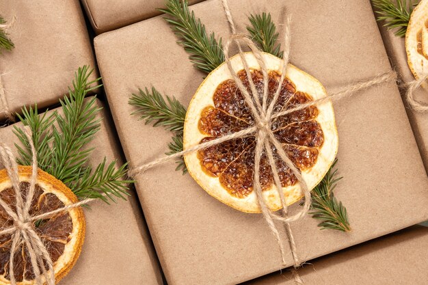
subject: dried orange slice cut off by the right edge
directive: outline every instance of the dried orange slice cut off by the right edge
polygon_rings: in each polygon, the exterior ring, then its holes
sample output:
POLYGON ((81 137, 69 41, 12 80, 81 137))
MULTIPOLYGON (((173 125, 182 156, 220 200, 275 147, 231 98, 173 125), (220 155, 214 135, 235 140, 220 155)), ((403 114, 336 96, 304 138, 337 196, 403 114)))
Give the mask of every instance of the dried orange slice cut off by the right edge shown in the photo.
POLYGON ((414 8, 405 33, 407 63, 416 79, 428 74, 428 0, 414 8))

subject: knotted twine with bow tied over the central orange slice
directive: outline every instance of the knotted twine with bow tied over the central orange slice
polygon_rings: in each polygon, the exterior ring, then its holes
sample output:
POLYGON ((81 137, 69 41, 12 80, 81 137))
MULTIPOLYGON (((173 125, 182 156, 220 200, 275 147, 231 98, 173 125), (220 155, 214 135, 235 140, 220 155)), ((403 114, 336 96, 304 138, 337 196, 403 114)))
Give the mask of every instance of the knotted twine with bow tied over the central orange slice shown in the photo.
MULTIPOLYGON (((129 176, 135 177, 139 174, 142 174, 147 169, 150 169, 152 167, 155 167, 157 165, 161 165, 162 163, 166 163, 168 161, 171 161, 173 159, 176 159, 178 157, 183 157, 183 155, 188 154, 190 152, 195 152, 198 150, 202 150, 204 148, 209 148, 211 146, 216 146, 217 144, 222 144, 224 141, 228 141, 230 139, 236 139, 239 137, 249 137, 253 136, 256 138, 256 148, 254 151, 254 192, 256 193, 257 201, 260 206, 260 209, 263 213, 263 217, 267 221, 267 224, 273 233, 273 236, 275 236, 276 240, 278 241, 278 246, 280 247, 280 253, 282 258, 282 263, 286 264, 286 253, 284 251, 284 246, 282 245, 282 240, 280 239, 280 233, 278 231, 278 228, 276 227, 276 224, 274 223, 274 220, 282 221, 286 228, 286 234, 289 238, 289 245, 291 247, 291 254, 293 256, 294 260, 294 267, 297 268, 302 264, 302 261, 299 260, 297 256, 297 249, 295 245, 295 240, 293 233, 291 232, 290 222, 291 221, 297 221, 298 219, 302 219, 308 213, 310 209, 311 204, 311 195, 310 195, 310 189, 308 189, 308 186, 306 185, 305 180, 302 177, 301 172, 291 159, 288 157, 288 155, 285 153, 285 151, 282 149, 282 146, 278 139, 273 135, 273 132, 271 131, 271 122, 275 120, 276 118, 280 116, 285 116, 289 113, 293 113, 295 111, 299 111, 302 109, 305 109, 307 107, 310 107, 312 105, 317 105, 319 103, 325 103, 329 102, 333 98, 343 98, 345 96, 350 96, 351 94, 355 94, 356 92, 359 92, 360 90, 364 90, 369 87, 373 87, 375 85, 379 85, 388 81, 396 81, 397 80, 397 74, 395 72, 386 72, 384 74, 381 74, 369 81, 363 81, 360 83, 356 83, 353 85, 348 85, 343 90, 340 90, 339 92, 336 92, 334 94, 327 95, 323 98, 319 98, 317 100, 309 101, 308 103, 304 103, 302 105, 298 105, 297 107, 293 107, 292 109, 286 109, 284 111, 278 111, 274 112, 273 107, 275 106, 276 101, 278 100, 278 97, 280 95, 280 90, 282 87, 282 83, 285 78, 286 74, 286 66, 289 63, 289 54, 290 54, 290 39, 291 39, 291 33, 290 33, 290 19, 289 17, 286 18, 286 23, 284 25, 284 55, 282 58, 282 74, 280 77, 280 82, 278 83, 278 87, 276 89, 276 92, 273 94, 273 99, 271 100, 271 103, 269 105, 267 104, 267 98, 269 96, 268 94, 268 82, 269 82, 269 74, 266 68, 265 64, 265 58, 263 57, 263 53, 256 47, 256 44, 248 38, 248 36, 245 36, 242 33, 237 33, 237 29, 235 26, 235 23, 232 18, 232 14, 230 13, 230 9, 228 7, 227 0, 222 0, 222 5, 224 8, 224 12, 226 14, 226 18, 228 19, 228 23, 230 25, 230 29, 232 30, 232 36, 230 36, 230 39, 226 42, 226 45, 224 46, 224 56, 225 56, 225 62, 228 66, 228 70, 230 71, 230 74, 232 76, 232 79, 235 81, 237 87, 239 88, 239 91, 241 94, 243 94, 245 103, 248 105, 250 112, 254 118, 254 125, 250 126, 249 128, 246 128, 242 131, 238 131, 236 133, 230 133, 228 135, 224 135, 222 137, 219 137, 217 139, 213 139, 211 141, 206 141, 202 144, 198 144, 196 146, 191 146, 187 148, 186 150, 183 150, 181 152, 177 152, 175 154, 171 154, 168 156, 161 157, 159 159, 156 159, 155 161, 151 161, 149 163, 140 165, 138 167, 135 167, 129 171, 129 176), (245 55, 241 49, 241 44, 239 41, 245 42, 251 49, 252 53, 254 54, 254 57, 256 58, 260 69, 263 73, 263 94, 258 94, 258 91, 256 90, 256 87, 254 85, 254 82, 252 81, 252 76, 250 72, 250 68, 248 67, 248 62, 245 59, 245 55), (248 82, 250 83, 250 91, 247 90, 247 88, 243 85, 241 79, 237 76, 237 71, 233 70, 232 64, 230 62, 229 57, 229 46, 232 42, 236 42, 237 46, 239 48, 239 56, 241 57, 241 61, 244 66, 245 74, 247 76, 248 82), (262 101, 260 102, 260 98, 262 101), (289 216, 289 213, 287 211, 287 205, 284 198, 284 193, 282 191, 282 185, 280 182, 278 169, 276 167, 276 163, 273 159, 273 151, 272 147, 276 149, 278 152, 280 158, 284 163, 286 164, 289 169, 293 172, 293 174, 296 176, 297 180, 299 181, 302 193, 304 194, 304 204, 301 211, 297 211, 292 216, 289 216), (282 204, 282 216, 278 215, 276 213, 272 213, 265 200, 263 199, 262 195, 262 187, 260 185, 260 175, 259 175, 259 168, 260 168, 260 157, 262 153, 265 152, 267 154, 267 158, 269 161, 269 165, 271 167, 271 171, 273 173, 273 181, 275 182, 276 189, 278 190, 278 193, 280 195, 280 201, 282 204)), ((303 284, 303 280, 299 277, 297 271, 293 271, 293 276, 295 277, 295 282, 298 284, 303 284)))

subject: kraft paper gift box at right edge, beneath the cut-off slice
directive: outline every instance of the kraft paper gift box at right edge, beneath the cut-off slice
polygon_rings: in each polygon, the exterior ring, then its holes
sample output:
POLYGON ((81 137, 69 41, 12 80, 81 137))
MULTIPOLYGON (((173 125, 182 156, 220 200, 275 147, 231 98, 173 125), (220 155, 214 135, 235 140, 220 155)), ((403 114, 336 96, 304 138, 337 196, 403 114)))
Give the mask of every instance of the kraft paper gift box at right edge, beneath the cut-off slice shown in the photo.
MULTIPOLYGON (((427 1, 425 1, 425 5, 426 3, 427 1)), ((375 11, 377 10, 375 9, 375 11)), ((388 29, 384 26, 384 21, 379 21, 378 25, 392 67, 394 70, 397 70, 399 79, 402 81, 401 94, 406 106, 407 116, 409 117, 410 124, 412 125, 416 141, 418 142, 418 147, 425 164, 425 169, 428 171, 428 113, 426 111, 416 111, 409 106, 409 103, 407 103, 405 94, 407 88, 405 84, 414 81, 415 78, 409 68, 409 64, 407 63, 405 37, 396 36, 395 33, 397 32, 397 29, 388 29)), ((414 99, 423 105, 428 105, 428 91, 422 87, 415 90, 414 99)))

